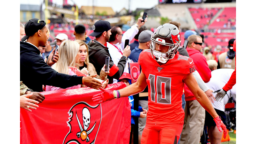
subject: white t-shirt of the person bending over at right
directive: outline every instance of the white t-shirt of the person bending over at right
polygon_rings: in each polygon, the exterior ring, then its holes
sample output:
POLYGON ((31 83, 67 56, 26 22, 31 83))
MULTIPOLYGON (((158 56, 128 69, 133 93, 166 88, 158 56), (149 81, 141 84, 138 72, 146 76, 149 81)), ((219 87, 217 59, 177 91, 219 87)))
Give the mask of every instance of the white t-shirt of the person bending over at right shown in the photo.
MULTIPOLYGON (((209 87, 209 89, 211 89, 213 91, 222 89, 225 86, 225 84, 228 82, 233 71, 234 71, 234 69, 217 69, 217 70, 212 71, 212 73, 211 73, 212 77, 211 77, 210 81, 208 83, 206 83, 206 85, 209 87)), ((213 93, 213 96, 215 97, 216 93, 213 93)), ((227 91, 227 95, 225 95, 221 101, 214 101, 214 103, 212 103, 212 106, 215 109, 218 109, 220 111, 225 111, 225 105, 227 104, 227 102, 228 102, 229 98, 231 98, 231 96, 235 100, 236 85, 234 85, 231 90, 227 91)))

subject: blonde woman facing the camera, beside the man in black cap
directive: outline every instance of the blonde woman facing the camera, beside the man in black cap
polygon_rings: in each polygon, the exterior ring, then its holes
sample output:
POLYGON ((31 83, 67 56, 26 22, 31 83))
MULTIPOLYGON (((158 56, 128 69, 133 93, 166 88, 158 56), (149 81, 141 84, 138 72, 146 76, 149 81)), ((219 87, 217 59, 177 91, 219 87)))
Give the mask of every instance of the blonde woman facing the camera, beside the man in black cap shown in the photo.
MULTIPOLYGON (((77 42, 80 45, 79 47, 80 58, 79 58, 79 62, 77 63, 79 65, 79 69, 82 71, 82 73, 86 75, 97 74, 93 64, 89 63, 89 53, 88 53, 87 44, 82 40, 75 40, 75 42, 77 42)), ((95 78, 98 78, 101 80, 107 80, 108 74, 109 74, 109 71, 105 72, 105 65, 104 65, 100 71, 100 75, 97 74, 95 78)))

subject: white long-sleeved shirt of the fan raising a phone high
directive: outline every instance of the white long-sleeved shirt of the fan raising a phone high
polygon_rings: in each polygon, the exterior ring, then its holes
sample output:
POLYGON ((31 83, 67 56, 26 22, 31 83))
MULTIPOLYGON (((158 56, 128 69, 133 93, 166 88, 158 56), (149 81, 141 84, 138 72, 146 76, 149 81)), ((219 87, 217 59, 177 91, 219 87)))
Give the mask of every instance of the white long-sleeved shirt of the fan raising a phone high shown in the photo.
MULTIPOLYGON (((135 25, 133 25, 130 29, 128 29, 122 37, 122 43, 114 44, 118 49, 115 46, 113 46, 112 44, 110 44, 109 42, 107 42, 109 54, 111 56, 112 61, 114 62, 114 64, 116 66, 118 65, 118 62, 120 61, 121 57, 123 56, 122 53, 124 51, 125 40, 129 39, 129 41, 131 41, 138 32, 139 32, 139 29, 135 25), (120 51, 122 53, 120 53, 120 51)), ((129 73, 128 62, 126 62, 126 64, 125 64, 124 72, 129 73)), ((113 83, 117 83, 117 79, 113 79, 113 83)))

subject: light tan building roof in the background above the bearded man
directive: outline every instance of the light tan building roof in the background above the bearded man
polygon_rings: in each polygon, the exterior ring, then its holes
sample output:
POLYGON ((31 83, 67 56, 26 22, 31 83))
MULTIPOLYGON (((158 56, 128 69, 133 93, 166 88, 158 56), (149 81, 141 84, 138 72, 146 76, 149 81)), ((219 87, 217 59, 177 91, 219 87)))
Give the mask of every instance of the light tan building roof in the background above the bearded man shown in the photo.
POLYGON ((115 15, 111 7, 94 7, 94 14, 92 14, 92 6, 81 6, 80 8, 86 15, 96 15, 96 12, 103 13, 106 12, 107 15, 115 15))

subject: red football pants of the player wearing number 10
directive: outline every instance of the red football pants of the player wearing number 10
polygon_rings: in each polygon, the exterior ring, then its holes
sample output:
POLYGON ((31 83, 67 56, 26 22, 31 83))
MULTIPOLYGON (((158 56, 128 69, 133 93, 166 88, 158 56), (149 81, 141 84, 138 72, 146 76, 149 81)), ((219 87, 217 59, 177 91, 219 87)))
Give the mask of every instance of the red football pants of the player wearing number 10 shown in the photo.
POLYGON ((146 122, 141 144, 177 144, 183 124, 150 124, 146 122))

